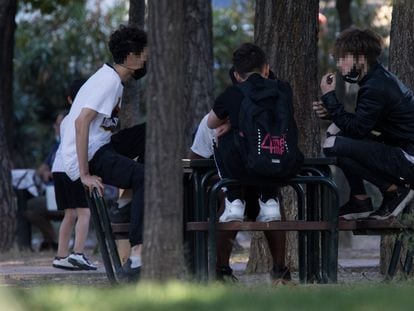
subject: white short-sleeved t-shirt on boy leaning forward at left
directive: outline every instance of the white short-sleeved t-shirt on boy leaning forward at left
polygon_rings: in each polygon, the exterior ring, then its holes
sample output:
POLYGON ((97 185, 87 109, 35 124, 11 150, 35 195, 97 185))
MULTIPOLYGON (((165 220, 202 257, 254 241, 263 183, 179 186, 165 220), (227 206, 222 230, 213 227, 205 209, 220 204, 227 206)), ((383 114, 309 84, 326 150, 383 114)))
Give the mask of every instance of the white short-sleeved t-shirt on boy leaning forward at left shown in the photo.
POLYGON ((106 64, 85 82, 60 126, 61 143, 56 152, 52 172, 64 171, 72 180, 80 177, 75 120, 83 108, 98 112, 89 127, 89 161, 100 147, 109 143, 111 130, 118 125, 117 113, 121 107, 122 92, 121 78, 106 64))

